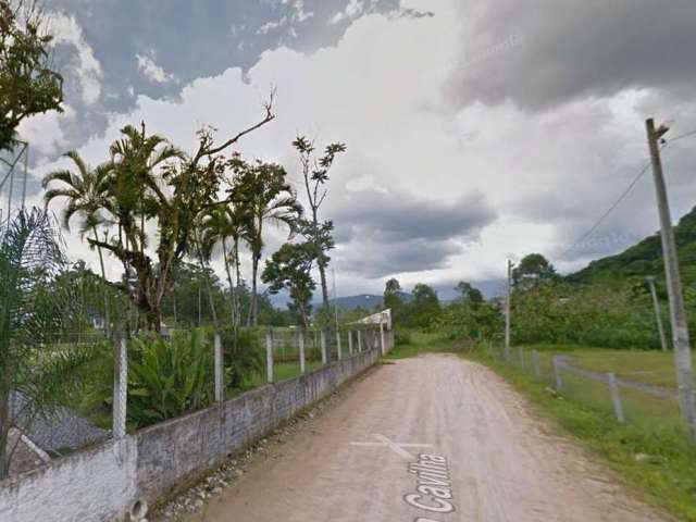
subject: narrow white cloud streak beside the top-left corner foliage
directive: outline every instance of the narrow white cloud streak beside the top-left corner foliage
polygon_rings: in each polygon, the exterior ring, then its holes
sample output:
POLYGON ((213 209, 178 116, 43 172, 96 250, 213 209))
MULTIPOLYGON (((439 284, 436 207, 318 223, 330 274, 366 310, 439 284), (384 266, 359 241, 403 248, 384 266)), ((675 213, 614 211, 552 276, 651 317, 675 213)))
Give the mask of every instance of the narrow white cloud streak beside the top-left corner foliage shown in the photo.
POLYGON ((101 94, 101 64, 95 58, 91 47, 85 41, 83 29, 74 16, 53 13, 50 20, 54 36, 53 45, 70 45, 77 50, 76 73, 80 82, 83 101, 90 105, 99 99, 101 94))

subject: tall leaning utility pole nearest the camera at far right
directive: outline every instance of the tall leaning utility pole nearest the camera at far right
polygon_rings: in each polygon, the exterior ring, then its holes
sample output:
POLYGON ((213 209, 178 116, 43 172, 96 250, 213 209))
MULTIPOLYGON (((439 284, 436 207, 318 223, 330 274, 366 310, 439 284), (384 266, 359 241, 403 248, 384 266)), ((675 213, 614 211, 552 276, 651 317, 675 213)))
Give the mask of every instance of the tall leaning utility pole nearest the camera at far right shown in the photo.
POLYGON ((679 258, 676 257, 676 244, 674 229, 667 197, 667 187, 662 174, 659 140, 669 130, 664 125, 655 128, 652 119, 647 120, 646 129, 652 173, 655 175, 655 191, 660 214, 660 228, 662 238, 662 254, 664 257, 664 275, 667 276, 667 291, 670 301, 670 319, 672 323, 672 346, 674 347, 674 362, 676 365, 676 383, 679 386, 680 406, 682 417, 686 422, 692 438, 696 438, 696 403, 694 401, 694 373, 692 370, 692 350, 686 325, 686 312, 684 310, 684 296, 682 282, 679 274, 679 258))

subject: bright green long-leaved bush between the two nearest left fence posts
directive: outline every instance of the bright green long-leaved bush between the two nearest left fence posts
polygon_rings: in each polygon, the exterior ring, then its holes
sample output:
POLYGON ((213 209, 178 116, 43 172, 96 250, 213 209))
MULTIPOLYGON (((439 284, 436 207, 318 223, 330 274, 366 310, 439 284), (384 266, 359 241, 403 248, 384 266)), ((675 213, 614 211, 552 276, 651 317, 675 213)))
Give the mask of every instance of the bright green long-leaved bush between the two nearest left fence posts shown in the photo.
POLYGON ((202 330, 133 339, 128 420, 146 426, 212 403, 213 347, 202 330))

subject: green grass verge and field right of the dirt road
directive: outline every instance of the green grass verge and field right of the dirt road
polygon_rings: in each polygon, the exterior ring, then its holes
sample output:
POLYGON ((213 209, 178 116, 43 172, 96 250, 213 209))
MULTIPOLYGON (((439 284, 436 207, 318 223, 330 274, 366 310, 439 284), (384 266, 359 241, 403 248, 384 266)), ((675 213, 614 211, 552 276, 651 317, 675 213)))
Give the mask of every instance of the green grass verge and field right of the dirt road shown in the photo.
MULTIPOLYGON (((620 369, 625 372, 626 368, 630 372, 641 371, 643 366, 637 361, 652 363, 657 359, 664 365, 661 359, 667 359, 660 352, 626 351, 621 355, 617 353, 618 350, 556 348, 559 347, 546 350, 547 361, 554 353, 572 352, 577 365, 581 365, 582 359, 583 368, 599 372, 616 371, 619 374, 620 369), (588 361, 586 365, 585 361, 588 361), (627 366, 624 361, 631 361, 631 365, 627 366)), ((535 349, 538 350, 538 347, 535 349)), ((542 350, 539 352, 542 356, 542 350)), ((554 421, 584 443, 619 472, 626 484, 645 493, 652 504, 682 520, 696 521, 696 445, 688 442, 679 422, 675 399, 621 389, 627 422, 619 424, 602 383, 563 373, 563 395, 559 397, 550 389, 551 383, 547 378, 537 381, 530 373, 487 356, 483 348, 465 357, 504 376, 534 405, 542 417, 554 421)), ((663 366, 651 364, 647 368, 663 366)), ((625 377, 631 378, 629 375, 625 377)), ((650 382, 666 383, 666 380, 650 382)))

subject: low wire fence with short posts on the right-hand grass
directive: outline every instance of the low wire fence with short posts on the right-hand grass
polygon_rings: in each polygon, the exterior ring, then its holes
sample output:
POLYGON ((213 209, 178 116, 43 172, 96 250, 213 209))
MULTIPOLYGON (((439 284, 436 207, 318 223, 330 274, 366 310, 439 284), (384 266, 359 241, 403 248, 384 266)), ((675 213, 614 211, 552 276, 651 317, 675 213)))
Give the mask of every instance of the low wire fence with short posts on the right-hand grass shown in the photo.
POLYGON ((501 339, 488 341, 485 351, 487 357, 545 384, 550 393, 618 423, 648 431, 683 425, 675 388, 592 372, 579 368, 567 353, 513 347, 506 358, 501 339))

